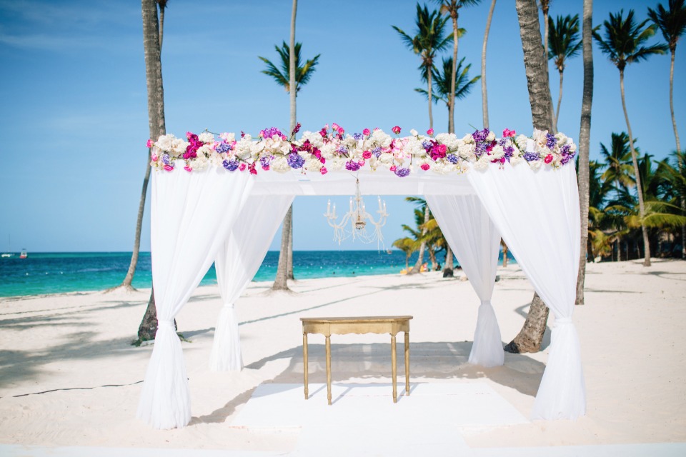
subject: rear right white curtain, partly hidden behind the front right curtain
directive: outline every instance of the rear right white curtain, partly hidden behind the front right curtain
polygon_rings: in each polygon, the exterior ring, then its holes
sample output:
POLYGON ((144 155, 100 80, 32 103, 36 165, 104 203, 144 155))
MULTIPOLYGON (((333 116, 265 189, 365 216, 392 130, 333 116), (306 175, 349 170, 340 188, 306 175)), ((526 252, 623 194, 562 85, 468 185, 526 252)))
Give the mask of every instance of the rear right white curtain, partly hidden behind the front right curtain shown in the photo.
POLYGON ((459 265, 481 300, 469 363, 502 365, 504 351, 500 328, 491 305, 500 234, 476 195, 427 195, 426 199, 459 265))

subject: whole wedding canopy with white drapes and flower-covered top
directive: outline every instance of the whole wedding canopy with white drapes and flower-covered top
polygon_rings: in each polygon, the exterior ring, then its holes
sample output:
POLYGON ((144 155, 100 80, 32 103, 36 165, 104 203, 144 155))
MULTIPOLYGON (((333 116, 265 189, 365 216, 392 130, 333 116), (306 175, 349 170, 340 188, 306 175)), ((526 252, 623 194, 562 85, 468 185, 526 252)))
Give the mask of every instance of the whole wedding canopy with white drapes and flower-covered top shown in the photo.
MULTIPOLYGON (((394 132, 399 134, 399 128, 394 132)), ((212 262, 224 307, 210 366, 239 370, 233 303, 257 272, 292 199, 352 195, 356 179, 362 194, 426 197, 481 301, 469 363, 482 366, 504 361, 491 303, 502 236, 555 315, 532 418, 584 415, 580 343, 572 323, 580 257, 572 141, 540 131, 531 139, 515 139, 506 130, 499 140, 487 130, 463 139, 427 134, 413 131, 410 137, 390 139, 382 131, 365 129, 344 137, 334 124, 330 133, 304 132, 299 141, 287 141, 269 129, 257 141, 249 136, 236 141, 232 134, 222 134, 221 141, 212 134, 187 134, 188 142, 173 136, 150 142, 156 168, 151 256, 159 323, 138 417, 154 428, 183 427, 190 421, 174 317, 212 262)))

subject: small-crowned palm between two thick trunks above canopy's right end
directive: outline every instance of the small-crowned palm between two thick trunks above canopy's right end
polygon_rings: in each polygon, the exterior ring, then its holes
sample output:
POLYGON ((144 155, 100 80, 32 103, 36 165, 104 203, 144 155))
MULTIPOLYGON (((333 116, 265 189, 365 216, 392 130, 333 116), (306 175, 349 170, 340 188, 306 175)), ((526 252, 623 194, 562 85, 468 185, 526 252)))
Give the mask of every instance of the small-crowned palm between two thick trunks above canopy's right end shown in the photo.
POLYGON ((557 16, 557 21, 548 18, 550 32, 548 34, 548 60, 552 60, 560 72, 560 94, 557 96, 557 110, 553 113, 553 128, 557 130, 557 120, 560 119, 560 104, 562 103, 562 74, 565 71, 567 59, 576 56, 581 51, 579 37, 579 15, 557 16))

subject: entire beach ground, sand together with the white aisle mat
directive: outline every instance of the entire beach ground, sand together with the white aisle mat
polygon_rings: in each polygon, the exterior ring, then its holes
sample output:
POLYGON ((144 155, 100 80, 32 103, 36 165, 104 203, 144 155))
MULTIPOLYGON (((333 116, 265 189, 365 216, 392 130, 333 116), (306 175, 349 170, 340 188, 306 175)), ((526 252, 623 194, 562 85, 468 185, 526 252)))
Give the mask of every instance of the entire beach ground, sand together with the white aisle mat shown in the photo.
MULTIPOLYGON (((587 304, 574 315, 587 388, 577 421, 529 417, 552 315, 540 353, 506 353, 494 368, 467 362, 479 299, 459 276, 309 279, 277 295, 250 283, 235 304, 244 369, 234 372, 209 370, 222 300, 216 286, 197 288, 177 316, 192 419, 172 430, 136 419, 152 346, 131 341, 149 291, 1 298, 0 454, 684 455, 686 263, 587 266, 587 304), (327 406, 324 337, 311 335, 305 400, 299 318, 324 315, 413 316, 411 395, 399 381, 392 403, 388 335, 341 335, 327 406)), ((498 276, 492 303, 507 343, 533 289, 517 264, 498 276)))

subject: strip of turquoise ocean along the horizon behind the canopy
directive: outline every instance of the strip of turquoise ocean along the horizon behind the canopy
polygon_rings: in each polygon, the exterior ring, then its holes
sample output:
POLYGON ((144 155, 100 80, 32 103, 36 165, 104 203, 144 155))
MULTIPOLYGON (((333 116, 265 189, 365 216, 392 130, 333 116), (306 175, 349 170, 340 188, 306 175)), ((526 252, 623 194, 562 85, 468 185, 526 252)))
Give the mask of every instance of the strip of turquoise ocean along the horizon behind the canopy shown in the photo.
MULTIPOLYGON (((502 253, 501 253, 502 256, 502 253)), ((508 256, 509 257, 509 256, 508 256)), ((410 258, 410 265, 417 253, 410 258)), ((428 258, 426 259, 428 261, 428 258)), ((119 285, 126 276, 130 252, 29 252, 28 258, 0 258, 0 296, 29 296, 45 293, 99 291, 119 285)), ((274 281, 279 251, 269 251, 254 281, 274 281)), ((443 261, 443 257, 439 257, 443 261)), ((457 261, 455 262, 457 266, 457 261)), ((296 279, 329 276, 394 274, 405 268, 402 251, 294 251, 296 279)), ((214 265, 201 285, 217 283, 214 265)), ((133 285, 151 284, 150 253, 141 252, 133 285)))

